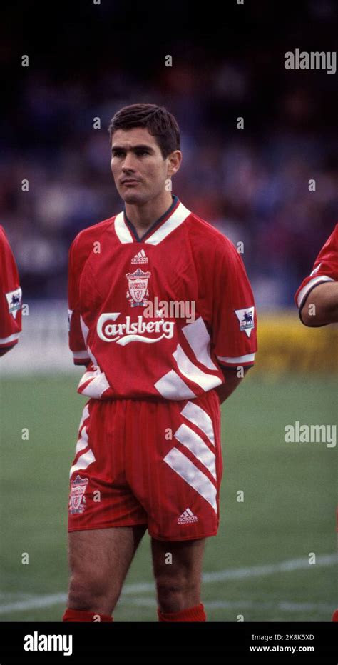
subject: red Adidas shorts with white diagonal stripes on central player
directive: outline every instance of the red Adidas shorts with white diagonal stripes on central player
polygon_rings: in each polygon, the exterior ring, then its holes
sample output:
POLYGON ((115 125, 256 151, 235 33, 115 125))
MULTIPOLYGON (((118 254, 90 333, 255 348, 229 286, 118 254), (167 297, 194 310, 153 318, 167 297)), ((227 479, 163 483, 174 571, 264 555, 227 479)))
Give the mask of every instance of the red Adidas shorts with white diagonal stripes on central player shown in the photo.
POLYGON ((150 536, 215 536, 220 401, 90 399, 71 467, 68 531, 146 524, 150 536))

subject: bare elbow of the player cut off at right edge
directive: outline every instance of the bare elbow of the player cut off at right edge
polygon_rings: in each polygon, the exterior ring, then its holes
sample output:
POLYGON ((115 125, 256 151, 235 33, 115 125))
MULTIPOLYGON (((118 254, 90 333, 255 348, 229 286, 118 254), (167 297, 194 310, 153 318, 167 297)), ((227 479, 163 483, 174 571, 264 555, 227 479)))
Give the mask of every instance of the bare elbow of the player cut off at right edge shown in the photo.
POLYGON ((309 292, 299 311, 304 326, 316 328, 338 322, 338 281, 318 284, 309 292))

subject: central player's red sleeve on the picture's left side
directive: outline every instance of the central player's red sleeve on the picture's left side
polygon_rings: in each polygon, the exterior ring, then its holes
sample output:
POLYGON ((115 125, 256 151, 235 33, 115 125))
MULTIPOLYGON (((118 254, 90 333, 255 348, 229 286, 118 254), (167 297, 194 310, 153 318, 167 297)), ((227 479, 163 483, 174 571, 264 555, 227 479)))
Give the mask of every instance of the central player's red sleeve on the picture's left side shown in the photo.
POLYGON ((78 259, 78 236, 76 236, 69 250, 68 264, 69 348, 73 351, 74 364, 86 365, 91 359, 86 348, 86 326, 81 319, 79 283, 82 266, 78 259))

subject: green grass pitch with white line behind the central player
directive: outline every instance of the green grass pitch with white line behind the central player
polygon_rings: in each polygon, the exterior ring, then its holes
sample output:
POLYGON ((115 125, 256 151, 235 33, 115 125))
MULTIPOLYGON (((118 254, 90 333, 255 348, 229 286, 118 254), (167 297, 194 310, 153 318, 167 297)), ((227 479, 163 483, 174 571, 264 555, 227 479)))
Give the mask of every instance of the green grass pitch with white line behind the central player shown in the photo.
MULTIPOLYGON (((61 621, 68 471, 85 401, 77 374, 0 381, 0 621, 61 621)), ((285 443, 284 428, 333 424, 335 383, 332 376, 263 381, 252 371, 222 406, 221 522, 207 541, 202 594, 208 621, 330 621, 336 448, 285 443)), ((146 532, 114 621, 156 621, 151 584, 146 532)))

